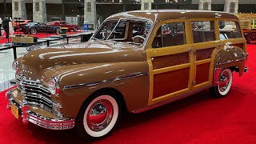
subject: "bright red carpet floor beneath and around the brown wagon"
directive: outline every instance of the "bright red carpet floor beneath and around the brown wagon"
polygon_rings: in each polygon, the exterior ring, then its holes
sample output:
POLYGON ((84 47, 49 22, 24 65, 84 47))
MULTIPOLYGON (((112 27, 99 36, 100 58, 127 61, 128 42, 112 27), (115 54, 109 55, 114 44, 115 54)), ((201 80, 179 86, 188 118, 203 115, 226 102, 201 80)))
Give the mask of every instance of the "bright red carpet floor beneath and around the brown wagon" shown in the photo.
MULTIPOLYGON (((249 73, 234 73, 230 94, 211 98, 205 90, 142 114, 128 114, 122 125, 94 143, 254 143, 256 142, 256 46, 248 45, 249 73)), ((82 143, 74 130, 46 130, 22 124, 6 110, 0 93, 0 143, 82 143)))

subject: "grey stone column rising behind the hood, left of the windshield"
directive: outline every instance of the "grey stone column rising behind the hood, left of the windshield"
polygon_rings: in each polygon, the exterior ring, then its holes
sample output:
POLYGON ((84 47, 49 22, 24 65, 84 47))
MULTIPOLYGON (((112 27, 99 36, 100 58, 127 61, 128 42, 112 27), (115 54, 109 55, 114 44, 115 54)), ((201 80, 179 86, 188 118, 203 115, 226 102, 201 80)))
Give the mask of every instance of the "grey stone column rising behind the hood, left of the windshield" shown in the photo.
POLYGON ((96 0, 85 0, 84 23, 97 26, 96 0))

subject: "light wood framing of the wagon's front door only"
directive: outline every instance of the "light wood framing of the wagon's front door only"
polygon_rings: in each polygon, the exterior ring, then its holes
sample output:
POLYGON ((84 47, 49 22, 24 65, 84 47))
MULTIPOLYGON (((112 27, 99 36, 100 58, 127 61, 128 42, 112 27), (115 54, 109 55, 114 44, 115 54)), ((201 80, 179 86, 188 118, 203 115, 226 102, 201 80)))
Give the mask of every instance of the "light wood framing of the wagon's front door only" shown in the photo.
POLYGON ((190 75, 193 73, 194 54, 193 54, 193 50, 191 50, 190 27, 188 26, 188 19, 187 18, 171 19, 171 20, 159 22, 158 25, 154 27, 154 31, 150 35, 150 39, 147 43, 146 57, 147 57, 147 62, 149 63, 149 68, 150 68, 150 90, 149 90, 149 100, 148 100, 149 106, 153 105, 155 103, 158 103, 158 102, 163 102, 170 98, 174 98, 180 94, 185 94, 185 93, 189 92, 191 89, 191 86, 192 86, 191 85, 192 79, 191 79, 190 75), (162 47, 162 48, 152 48, 151 44, 154 40, 154 35, 157 33, 160 26, 162 26, 165 23, 170 23, 170 22, 184 22, 184 26, 185 26, 184 32, 185 32, 186 44, 180 45, 180 46, 166 46, 166 47, 162 47), (164 56, 164 55, 170 55, 170 54, 180 54, 180 53, 184 53, 184 52, 189 53, 189 60, 190 60, 189 63, 181 64, 181 65, 177 65, 177 66, 168 66, 168 67, 160 68, 157 70, 153 69, 153 64, 151 61, 152 57, 158 57, 158 56, 164 56), (178 91, 175 91, 174 93, 166 94, 166 95, 163 95, 158 98, 153 98, 154 74, 161 74, 161 73, 170 72, 173 70, 181 70, 181 69, 188 68, 188 67, 190 67, 190 75, 189 75, 189 83, 188 83, 188 86, 186 89, 178 90, 178 91))

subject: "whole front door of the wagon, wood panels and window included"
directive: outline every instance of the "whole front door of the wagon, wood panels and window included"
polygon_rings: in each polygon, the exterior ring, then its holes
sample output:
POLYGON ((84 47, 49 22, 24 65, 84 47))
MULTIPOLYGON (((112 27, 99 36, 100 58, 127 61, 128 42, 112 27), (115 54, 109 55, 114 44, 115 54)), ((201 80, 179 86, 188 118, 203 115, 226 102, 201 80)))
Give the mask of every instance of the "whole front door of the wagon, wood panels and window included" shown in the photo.
POLYGON ((149 105, 186 94, 192 85, 194 54, 186 18, 160 22, 146 50, 150 66, 149 105))

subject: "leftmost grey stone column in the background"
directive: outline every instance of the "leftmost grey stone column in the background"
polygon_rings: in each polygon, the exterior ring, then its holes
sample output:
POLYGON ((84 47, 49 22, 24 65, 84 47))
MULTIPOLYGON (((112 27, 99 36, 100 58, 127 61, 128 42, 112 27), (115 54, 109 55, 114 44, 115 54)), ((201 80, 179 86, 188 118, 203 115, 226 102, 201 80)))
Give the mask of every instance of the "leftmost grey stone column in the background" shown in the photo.
POLYGON ((25 0, 12 0, 12 18, 26 19, 25 0))

